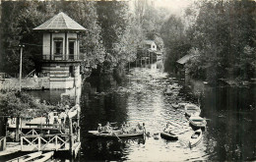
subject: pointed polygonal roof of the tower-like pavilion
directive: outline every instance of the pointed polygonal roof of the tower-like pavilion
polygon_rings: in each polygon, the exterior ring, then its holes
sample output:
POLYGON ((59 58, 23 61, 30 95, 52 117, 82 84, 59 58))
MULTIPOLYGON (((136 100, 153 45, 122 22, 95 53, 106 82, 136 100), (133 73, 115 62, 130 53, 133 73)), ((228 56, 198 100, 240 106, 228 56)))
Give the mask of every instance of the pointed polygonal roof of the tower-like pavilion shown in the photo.
POLYGON ((50 20, 42 25, 35 27, 36 30, 87 30, 85 27, 80 26, 77 22, 71 19, 64 13, 55 15, 50 20))

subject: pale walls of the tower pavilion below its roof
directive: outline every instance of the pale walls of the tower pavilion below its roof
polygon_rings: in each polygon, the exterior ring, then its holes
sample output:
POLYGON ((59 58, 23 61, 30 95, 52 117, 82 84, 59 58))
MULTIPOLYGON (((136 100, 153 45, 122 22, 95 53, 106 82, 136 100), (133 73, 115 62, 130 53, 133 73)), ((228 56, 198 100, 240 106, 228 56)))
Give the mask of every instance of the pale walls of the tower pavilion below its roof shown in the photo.
POLYGON ((81 75, 80 75, 80 64, 78 62, 72 62, 69 58, 69 40, 72 39, 74 43, 74 59, 79 55, 79 41, 77 39, 76 32, 52 32, 43 33, 43 58, 44 60, 59 60, 44 62, 42 64, 42 73, 47 73, 50 81, 50 88, 73 88, 76 86, 81 86, 81 75), (62 38, 62 58, 54 57, 54 39, 62 38), (51 40, 50 40, 51 39, 51 40), (50 45, 50 42, 51 45, 50 45), (50 48, 51 47, 51 48, 50 48), (61 61, 67 60, 67 61, 61 61), (73 75, 71 75, 73 74, 73 75), (76 81, 74 83, 74 81, 76 81))

